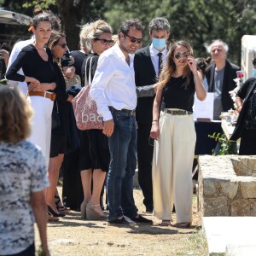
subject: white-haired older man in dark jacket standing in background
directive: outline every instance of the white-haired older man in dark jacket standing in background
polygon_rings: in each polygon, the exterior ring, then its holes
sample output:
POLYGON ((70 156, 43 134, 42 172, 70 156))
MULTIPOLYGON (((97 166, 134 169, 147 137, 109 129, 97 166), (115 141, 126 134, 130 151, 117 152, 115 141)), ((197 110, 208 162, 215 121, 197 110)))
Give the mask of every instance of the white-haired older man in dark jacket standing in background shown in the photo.
POLYGON ((214 40, 207 50, 214 61, 214 64, 206 69, 208 91, 214 92, 213 119, 219 119, 221 112, 234 108, 229 91, 236 87, 233 79, 236 79, 236 71, 240 70, 240 67, 226 60, 229 46, 222 40, 214 40))

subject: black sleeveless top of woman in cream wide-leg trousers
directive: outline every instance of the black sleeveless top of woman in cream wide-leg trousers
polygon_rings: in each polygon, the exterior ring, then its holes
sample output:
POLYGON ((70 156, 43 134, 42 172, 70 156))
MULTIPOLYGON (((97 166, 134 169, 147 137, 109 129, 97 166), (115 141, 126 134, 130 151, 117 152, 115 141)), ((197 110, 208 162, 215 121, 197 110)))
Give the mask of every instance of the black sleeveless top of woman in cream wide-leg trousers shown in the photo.
POLYGON ((161 108, 179 108, 192 112, 195 95, 194 76, 191 74, 189 85, 184 85, 185 78, 173 78, 163 89, 163 100, 161 108))

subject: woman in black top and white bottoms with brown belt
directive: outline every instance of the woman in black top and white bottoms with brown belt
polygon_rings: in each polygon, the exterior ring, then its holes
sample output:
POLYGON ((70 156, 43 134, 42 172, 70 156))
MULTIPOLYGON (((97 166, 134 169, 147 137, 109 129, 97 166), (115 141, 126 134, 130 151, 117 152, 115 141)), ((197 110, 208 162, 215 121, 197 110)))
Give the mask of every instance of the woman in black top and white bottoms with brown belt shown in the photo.
POLYGON ((51 113, 55 100, 55 69, 51 51, 45 47, 51 34, 51 16, 42 13, 34 16, 31 30, 35 41, 24 47, 6 73, 6 78, 28 85, 29 100, 32 104, 32 134, 28 140, 38 145, 49 164, 51 137, 51 113), (22 68, 24 75, 18 72, 22 68))

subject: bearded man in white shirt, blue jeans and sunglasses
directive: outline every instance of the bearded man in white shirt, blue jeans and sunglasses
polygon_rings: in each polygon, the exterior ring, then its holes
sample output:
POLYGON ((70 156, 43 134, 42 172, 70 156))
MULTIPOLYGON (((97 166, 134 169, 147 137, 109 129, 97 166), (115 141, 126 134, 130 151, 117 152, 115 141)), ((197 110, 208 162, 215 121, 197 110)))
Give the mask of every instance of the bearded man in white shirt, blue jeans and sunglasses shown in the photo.
POLYGON ((142 43, 141 21, 123 22, 119 41, 100 55, 90 89, 90 96, 103 118, 102 132, 109 137, 109 224, 152 224, 151 220, 137 213, 133 198, 133 176, 137 166, 137 94, 132 54, 142 43))

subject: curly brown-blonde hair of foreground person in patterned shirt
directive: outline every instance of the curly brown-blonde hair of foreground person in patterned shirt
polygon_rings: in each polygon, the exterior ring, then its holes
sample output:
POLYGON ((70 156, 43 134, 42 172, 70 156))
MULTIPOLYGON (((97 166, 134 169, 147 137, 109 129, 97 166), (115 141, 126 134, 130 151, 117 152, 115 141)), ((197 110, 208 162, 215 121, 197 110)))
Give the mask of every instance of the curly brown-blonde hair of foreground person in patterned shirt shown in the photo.
POLYGON ((19 143, 31 133, 32 108, 18 89, 0 86, 0 141, 19 143))

